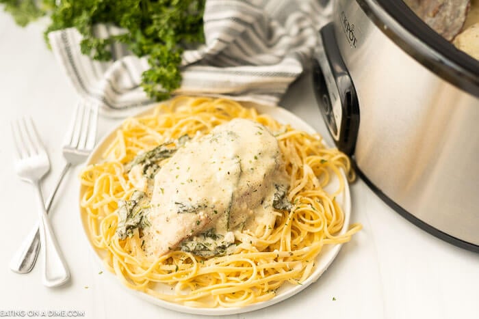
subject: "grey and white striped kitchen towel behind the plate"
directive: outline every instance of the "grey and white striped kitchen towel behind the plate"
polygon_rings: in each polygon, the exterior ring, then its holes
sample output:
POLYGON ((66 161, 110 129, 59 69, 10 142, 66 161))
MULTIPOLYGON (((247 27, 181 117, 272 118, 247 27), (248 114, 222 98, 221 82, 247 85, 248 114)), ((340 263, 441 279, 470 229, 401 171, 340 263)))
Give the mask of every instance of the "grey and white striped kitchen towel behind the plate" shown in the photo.
MULTIPOLYGON (((174 94, 227 96, 276 105, 318 46, 328 8, 321 0, 207 0, 205 45, 185 51, 183 81, 174 94)), ((330 1, 331 2, 331 1, 330 1)), ((99 25, 98 36, 121 29, 99 25)), ((49 33, 55 58, 81 98, 101 105, 104 115, 122 117, 153 101, 140 86, 146 57, 112 45, 113 60, 94 61, 80 52, 74 29, 49 33)))

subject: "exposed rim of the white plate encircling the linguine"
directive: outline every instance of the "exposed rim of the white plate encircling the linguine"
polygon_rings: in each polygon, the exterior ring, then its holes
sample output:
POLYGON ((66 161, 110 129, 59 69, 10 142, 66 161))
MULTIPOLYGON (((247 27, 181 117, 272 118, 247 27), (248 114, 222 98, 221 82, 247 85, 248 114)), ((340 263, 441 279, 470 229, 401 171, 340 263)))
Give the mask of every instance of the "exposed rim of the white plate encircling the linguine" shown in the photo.
MULTIPOLYGON (((158 105, 161 105, 163 103, 167 103, 169 101, 170 100, 166 100, 164 102, 153 103, 153 104, 149 105, 148 107, 138 111, 138 113, 135 113, 134 115, 131 115, 131 116, 128 116, 128 117, 141 117, 143 115, 147 115, 148 113, 152 113, 158 105)), ((236 101, 236 102, 239 102, 239 101, 236 101)), ((239 102, 239 104, 241 104, 244 107, 255 107, 255 109, 257 109, 259 114, 267 113, 268 115, 273 117, 274 120, 278 120, 277 117, 279 115, 282 115, 283 117, 288 119, 288 122, 286 122, 285 124, 291 124, 292 127, 296 128, 296 129, 304 130, 305 132, 307 132, 309 134, 317 133, 316 130, 311 125, 309 125, 307 122, 305 122, 305 120, 302 120, 300 117, 298 117, 298 115, 288 111, 287 109, 285 109, 281 106, 274 106, 273 107, 273 106, 270 106, 270 105, 261 105, 259 103, 248 102, 248 101, 239 102), (272 113, 278 113, 279 115, 275 116, 272 113), (289 121, 291 121, 291 122, 289 122, 289 121), (292 122, 294 122, 296 124, 299 124, 299 125, 292 124, 292 122)), ((98 156, 98 153, 101 153, 101 151, 105 149, 105 143, 108 143, 109 139, 114 139, 116 131, 122 126, 123 121, 128 117, 125 117, 124 119, 122 119, 122 122, 115 125, 114 128, 112 128, 111 130, 108 130, 107 133, 105 134, 105 136, 103 136, 98 141, 98 143, 96 143, 94 149, 89 154, 86 162, 83 164, 83 167, 94 164, 92 162, 93 159, 98 156)), ((279 121, 279 122, 281 122, 281 121, 279 121)), ((326 141, 323 141, 323 142, 326 145, 326 147, 328 147, 328 148, 331 147, 331 145, 328 145, 326 143, 326 141)), ((97 162, 95 162, 95 163, 97 163, 97 162)), ((344 169, 341 169, 341 174, 342 174, 343 178, 346 180, 346 183, 344 184, 344 191, 343 191, 343 193, 341 193, 341 195, 344 196, 344 199, 342 201, 343 203, 341 205, 341 208, 343 208, 343 212, 344 212, 344 225, 341 228, 341 231, 339 232, 339 234, 344 234, 348 230, 348 226, 349 226, 349 223, 350 223, 351 198, 350 198, 349 183, 347 182, 347 178, 346 178, 346 174, 344 172, 344 169)), ((85 236, 86 240, 88 241, 88 246, 90 247, 90 251, 94 254, 94 256, 95 256, 94 259, 96 260, 96 262, 98 262, 102 267, 104 267, 103 259, 101 258, 101 255, 99 255, 99 251, 101 251, 101 249, 98 249, 98 248, 94 247, 94 245, 92 245, 92 240, 90 238, 90 234, 88 233, 88 228, 87 228, 88 223, 86 223, 86 218, 85 218, 86 214, 84 212, 84 209, 80 205, 81 197, 84 193, 84 191, 83 191, 84 187, 85 186, 80 184, 80 187, 79 187, 79 219, 80 219, 81 227, 83 228, 83 236, 85 236)), ((190 307, 190 306, 187 306, 187 305, 172 303, 170 301, 164 301, 164 300, 161 300, 161 299, 157 299, 154 296, 146 294, 146 292, 142 292, 142 291, 139 291, 139 290, 133 290, 133 289, 127 288, 125 285, 123 285, 118 280, 118 278, 116 278, 115 274, 110 273, 109 271, 107 271, 107 273, 108 273, 109 276, 114 278, 114 281, 116 281, 116 283, 118 283, 124 290, 127 290, 127 292, 129 292, 129 293, 131 293, 135 296, 138 296, 140 299, 142 299, 144 301, 148 301, 149 303, 153 303, 154 305, 157 305, 159 307, 163 307, 163 308, 170 309, 170 310, 173 310, 173 311, 179 311, 179 312, 184 313, 184 314, 197 314, 197 315, 206 315, 206 316, 224 316, 224 315, 242 314, 242 313, 245 313, 245 312, 255 311, 255 310, 258 310, 258 309, 269 307, 269 306, 275 305, 276 303, 280 303, 281 301, 285 301, 286 299, 291 298, 292 296, 302 292, 302 290, 305 290, 307 287, 311 286, 311 284, 315 283, 315 281, 318 281, 318 279, 322 276, 322 274, 329 268, 329 266, 331 266, 333 261, 336 259, 337 254, 339 253, 339 250, 341 249, 342 245, 343 244, 335 244, 335 245, 331 245, 331 246, 328 245, 328 247, 330 249, 326 253, 328 253, 328 258, 329 259, 326 260, 326 262, 322 266, 322 268, 319 268, 318 266, 316 266, 313 273, 311 273, 311 275, 305 281, 303 281, 301 285, 294 286, 294 287, 290 288, 289 290, 287 290, 285 292, 281 292, 281 294, 278 294, 277 296, 274 296, 272 299, 270 299, 268 301, 261 301, 259 303, 253 303, 253 304, 250 304, 250 305, 246 305, 244 307, 205 308, 205 307, 190 307)), ((321 257, 321 254, 318 255, 316 258, 318 259, 320 257, 321 257)))

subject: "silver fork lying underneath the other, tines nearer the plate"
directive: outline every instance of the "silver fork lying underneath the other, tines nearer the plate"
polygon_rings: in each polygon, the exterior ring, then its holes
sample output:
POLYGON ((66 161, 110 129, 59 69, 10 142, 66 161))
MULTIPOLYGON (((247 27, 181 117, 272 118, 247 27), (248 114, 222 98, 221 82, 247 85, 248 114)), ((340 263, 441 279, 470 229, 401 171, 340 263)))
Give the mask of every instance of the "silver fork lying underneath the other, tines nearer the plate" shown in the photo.
MULTIPOLYGON (((70 167, 85 161, 93 150, 96 140, 97 121, 98 107, 86 106, 81 102, 77 104, 63 147, 63 156, 66 164, 62 174, 60 174, 60 178, 57 180, 55 189, 45 204, 47 212, 70 167)), ((40 250, 40 241, 38 224, 36 224, 14 254, 10 261, 10 269, 15 273, 29 273, 34 268, 38 251, 40 250)))

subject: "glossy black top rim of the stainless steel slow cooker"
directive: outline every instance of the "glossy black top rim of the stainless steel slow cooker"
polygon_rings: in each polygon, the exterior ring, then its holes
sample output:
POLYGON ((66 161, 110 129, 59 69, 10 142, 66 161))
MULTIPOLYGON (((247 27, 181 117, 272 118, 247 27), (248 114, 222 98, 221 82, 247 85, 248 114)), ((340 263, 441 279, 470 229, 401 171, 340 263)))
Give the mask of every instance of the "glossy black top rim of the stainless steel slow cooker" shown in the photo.
POLYGON ((479 61, 431 29, 401 0, 356 0, 391 40, 446 81, 479 98, 479 61))

